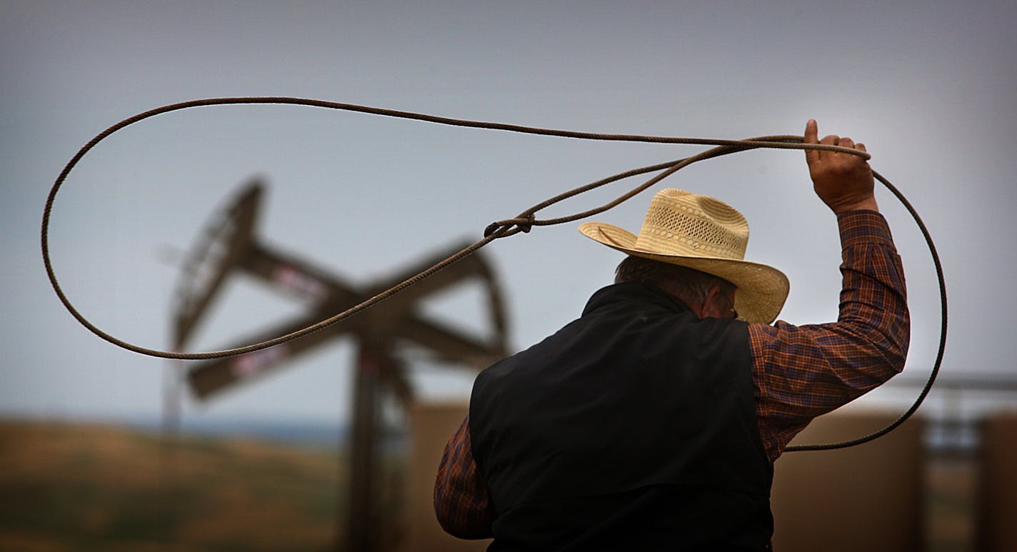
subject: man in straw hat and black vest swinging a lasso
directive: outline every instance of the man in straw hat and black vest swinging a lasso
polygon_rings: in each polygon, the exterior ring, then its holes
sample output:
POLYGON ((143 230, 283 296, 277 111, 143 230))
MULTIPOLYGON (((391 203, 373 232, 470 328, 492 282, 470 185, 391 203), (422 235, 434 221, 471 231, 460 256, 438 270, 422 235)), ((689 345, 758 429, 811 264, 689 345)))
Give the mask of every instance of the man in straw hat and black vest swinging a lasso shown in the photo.
MULTIPOLYGON (((806 143, 865 147, 835 135, 806 143)), ((765 550, 773 462, 809 422, 898 373, 904 275, 857 156, 806 150, 840 227, 837 322, 778 321, 779 270, 743 260, 749 226, 719 200, 663 190, 615 285, 474 383, 434 489, 448 533, 489 550, 765 550)))

